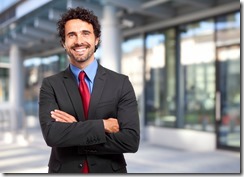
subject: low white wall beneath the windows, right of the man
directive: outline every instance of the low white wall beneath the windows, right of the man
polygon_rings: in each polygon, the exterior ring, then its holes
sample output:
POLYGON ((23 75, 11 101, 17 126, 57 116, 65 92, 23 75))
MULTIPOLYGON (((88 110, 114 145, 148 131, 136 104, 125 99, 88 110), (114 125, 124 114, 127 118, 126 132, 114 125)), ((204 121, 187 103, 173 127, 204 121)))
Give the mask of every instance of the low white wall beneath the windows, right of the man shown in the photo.
POLYGON ((146 127, 147 141, 165 147, 189 151, 211 151, 216 149, 216 135, 196 130, 146 127))

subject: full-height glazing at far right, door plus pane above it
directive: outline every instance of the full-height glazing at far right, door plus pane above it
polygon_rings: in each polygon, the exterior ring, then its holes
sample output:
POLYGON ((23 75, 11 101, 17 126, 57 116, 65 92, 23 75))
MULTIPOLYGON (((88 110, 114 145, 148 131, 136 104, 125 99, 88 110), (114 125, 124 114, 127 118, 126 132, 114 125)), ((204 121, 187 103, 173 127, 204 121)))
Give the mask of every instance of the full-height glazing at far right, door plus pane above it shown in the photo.
POLYGON ((240 12, 217 18, 217 91, 220 146, 240 147, 240 12))

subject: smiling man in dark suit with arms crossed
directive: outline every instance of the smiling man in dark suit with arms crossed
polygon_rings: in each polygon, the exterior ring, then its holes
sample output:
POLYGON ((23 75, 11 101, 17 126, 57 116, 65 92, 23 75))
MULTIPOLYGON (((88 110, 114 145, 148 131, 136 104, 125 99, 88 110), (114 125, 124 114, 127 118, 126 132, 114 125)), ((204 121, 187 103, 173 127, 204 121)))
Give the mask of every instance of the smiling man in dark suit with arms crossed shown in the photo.
POLYGON ((70 64, 43 80, 39 102, 49 173, 127 173, 123 153, 135 153, 140 140, 133 87, 94 58, 101 30, 92 11, 69 9, 58 32, 70 64))

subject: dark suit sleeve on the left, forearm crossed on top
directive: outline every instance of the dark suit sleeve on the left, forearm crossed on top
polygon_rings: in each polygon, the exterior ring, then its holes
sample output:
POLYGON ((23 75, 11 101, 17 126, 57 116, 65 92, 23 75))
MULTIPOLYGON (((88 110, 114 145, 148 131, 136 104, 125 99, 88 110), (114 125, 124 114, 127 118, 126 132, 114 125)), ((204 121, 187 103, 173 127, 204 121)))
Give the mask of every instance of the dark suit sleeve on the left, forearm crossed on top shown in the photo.
MULTIPOLYGON (((39 94, 39 121, 47 145, 51 147, 69 147, 106 142, 102 120, 62 123, 51 118, 50 112, 54 109, 60 109, 60 103, 57 101, 58 97, 63 98, 64 96, 59 84, 61 82, 57 79, 53 81, 46 78, 42 82, 39 94)), ((64 100, 64 102, 67 102, 67 100, 64 100)), ((75 116, 75 113, 69 113, 75 116)))

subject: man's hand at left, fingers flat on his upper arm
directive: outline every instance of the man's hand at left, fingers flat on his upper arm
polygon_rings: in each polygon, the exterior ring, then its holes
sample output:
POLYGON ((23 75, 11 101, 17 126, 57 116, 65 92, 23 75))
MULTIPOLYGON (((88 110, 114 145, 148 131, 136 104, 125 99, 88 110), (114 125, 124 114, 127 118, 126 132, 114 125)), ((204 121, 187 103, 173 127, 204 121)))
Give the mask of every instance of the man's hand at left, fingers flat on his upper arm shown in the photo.
POLYGON ((51 111, 51 117, 54 118, 56 122, 66 122, 66 123, 77 122, 74 116, 57 109, 51 111))

